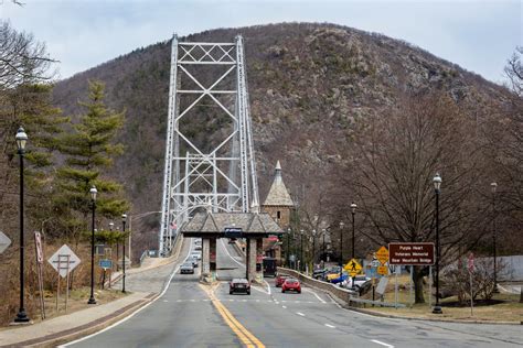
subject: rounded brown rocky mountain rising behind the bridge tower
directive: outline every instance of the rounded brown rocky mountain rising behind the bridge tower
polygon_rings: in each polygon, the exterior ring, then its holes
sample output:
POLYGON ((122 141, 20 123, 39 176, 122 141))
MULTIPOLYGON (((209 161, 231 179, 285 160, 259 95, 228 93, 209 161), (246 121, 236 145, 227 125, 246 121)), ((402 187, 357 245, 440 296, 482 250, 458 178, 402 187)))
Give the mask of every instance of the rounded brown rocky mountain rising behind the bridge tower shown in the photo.
MULTIPOLYGON (((319 173, 335 171, 343 161, 354 119, 386 113, 405 90, 440 89, 461 104, 505 94, 406 42, 334 24, 218 29, 180 41, 233 42, 237 34, 245 39, 262 200, 277 160, 292 195, 306 199, 319 173)), ((167 40, 58 81, 54 90, 55 102, 75 115, 87 80, 99 79, 106 83, 107 104, 127 110, 119 134, 126 152, 110 174, 125 183, 135 214, 161 205, 169 68, 167 40)), ((217 139, 220 130, 213 131, 206 139, 217 139)))

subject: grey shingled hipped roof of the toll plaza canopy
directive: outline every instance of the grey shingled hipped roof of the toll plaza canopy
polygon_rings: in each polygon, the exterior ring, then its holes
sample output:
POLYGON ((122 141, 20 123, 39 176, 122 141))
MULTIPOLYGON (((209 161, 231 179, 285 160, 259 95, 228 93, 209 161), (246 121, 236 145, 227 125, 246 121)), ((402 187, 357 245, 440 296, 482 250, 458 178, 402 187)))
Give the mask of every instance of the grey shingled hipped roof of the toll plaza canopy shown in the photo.
POLYGON ((183 237, 221 238, 227 231, 241 232, 241 238, 285 233, 268 213, 198 213, 180 227, 183 237))

